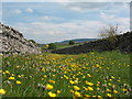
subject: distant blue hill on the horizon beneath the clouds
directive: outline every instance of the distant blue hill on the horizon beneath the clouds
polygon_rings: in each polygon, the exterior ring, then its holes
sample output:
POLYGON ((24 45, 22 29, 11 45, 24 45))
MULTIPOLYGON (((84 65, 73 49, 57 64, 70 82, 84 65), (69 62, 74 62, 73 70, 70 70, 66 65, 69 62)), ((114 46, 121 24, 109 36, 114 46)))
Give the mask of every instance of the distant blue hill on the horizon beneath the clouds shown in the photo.
POLYGON ((74 41, 75 43, 84 43, 84 42, 89 42, 89 41, 95 41, 97 38, 75 38, 75 40, 67 40, 67 41, 62 41, 62 42, 55 42, 56 44, 66 44, 69 43, 69 41, 74 41))

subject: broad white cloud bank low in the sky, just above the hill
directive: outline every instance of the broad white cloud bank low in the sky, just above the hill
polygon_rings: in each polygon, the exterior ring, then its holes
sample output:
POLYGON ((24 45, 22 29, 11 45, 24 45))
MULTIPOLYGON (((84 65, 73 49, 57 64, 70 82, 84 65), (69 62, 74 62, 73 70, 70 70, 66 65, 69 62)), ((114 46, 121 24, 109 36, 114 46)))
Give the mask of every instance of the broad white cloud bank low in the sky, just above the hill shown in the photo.
MULTIPOLYGON (((130 29, 129 18, 118 18, 112 14, 100 13, 100 21, 74 20, 64 23, 52 23, 47 21, 18 23, 18 30, 22 31, 26 38, 35 38, 38 43, 51 43, 70 38, 98 37, 100 29, 109 23, 119 24, 123 33, 130 29)), ((51 18, 45 18, 51 20, 51 18)), ((57 19, 57 18, 56 18, 57 19)), ((58 18, 59 19, 59 18, 58 18)))

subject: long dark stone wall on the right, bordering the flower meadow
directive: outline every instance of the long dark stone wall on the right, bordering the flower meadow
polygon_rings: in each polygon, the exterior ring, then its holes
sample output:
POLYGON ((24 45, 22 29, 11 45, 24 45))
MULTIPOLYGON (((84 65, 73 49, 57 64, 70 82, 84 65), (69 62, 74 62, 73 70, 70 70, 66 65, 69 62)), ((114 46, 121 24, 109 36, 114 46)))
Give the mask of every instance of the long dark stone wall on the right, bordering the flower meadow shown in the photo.
POLYGON ((124 34, 117 35, 117 41, 114 43, 110 42, 108 38, 103 38, 103 40, 91 41, 78 46, 55 50, 52 53, 80 54, 92 51, 103 52, 103 51, 114 51, 114 50, 131 53, 132 52, 131 38, 132 38, 132 32, 127 32, 124 34))

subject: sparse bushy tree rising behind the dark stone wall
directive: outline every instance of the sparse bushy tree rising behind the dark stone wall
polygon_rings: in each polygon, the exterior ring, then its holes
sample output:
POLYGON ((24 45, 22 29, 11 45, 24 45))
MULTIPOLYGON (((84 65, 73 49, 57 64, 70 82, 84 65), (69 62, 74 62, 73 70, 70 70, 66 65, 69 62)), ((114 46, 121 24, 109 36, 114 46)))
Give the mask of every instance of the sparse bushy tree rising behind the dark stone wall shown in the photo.
POLYGON ((117 41, 117 36, 120 32, 119 32, 119 28, 118 24, 116 26, 113 25, 109 25, 108 28, 101 29, 99 36, 100 37, 107 37, 110 42, 116 42, 117 41))

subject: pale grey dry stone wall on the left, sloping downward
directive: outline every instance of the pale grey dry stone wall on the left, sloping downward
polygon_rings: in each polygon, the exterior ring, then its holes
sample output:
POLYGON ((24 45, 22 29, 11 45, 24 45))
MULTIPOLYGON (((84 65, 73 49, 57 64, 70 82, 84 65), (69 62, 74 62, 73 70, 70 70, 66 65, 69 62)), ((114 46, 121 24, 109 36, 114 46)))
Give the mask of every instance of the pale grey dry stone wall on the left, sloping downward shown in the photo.
POLYGON ((23 37, 22 33, 11 26, 0 23, 0 53, 30 53, 40 54, 41 48, 23 37))

